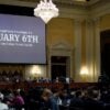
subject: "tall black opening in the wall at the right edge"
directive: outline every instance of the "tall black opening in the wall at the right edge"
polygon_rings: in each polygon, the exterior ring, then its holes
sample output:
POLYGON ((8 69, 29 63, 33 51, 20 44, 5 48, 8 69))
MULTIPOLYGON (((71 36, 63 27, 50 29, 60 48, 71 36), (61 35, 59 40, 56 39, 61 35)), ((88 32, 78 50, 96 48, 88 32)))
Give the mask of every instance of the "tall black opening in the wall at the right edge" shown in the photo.
POLYGON ((101 75, 110 79, 110 30, 100 34, 101 75))

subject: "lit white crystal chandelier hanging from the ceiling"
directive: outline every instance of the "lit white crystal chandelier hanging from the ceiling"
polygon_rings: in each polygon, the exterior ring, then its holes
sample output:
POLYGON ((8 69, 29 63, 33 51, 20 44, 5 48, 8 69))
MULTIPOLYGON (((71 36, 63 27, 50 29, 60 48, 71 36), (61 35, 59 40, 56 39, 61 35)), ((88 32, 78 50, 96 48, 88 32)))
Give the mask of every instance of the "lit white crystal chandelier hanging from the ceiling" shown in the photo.
POLYGON ((52 0, 41 0, 34 9, 34 15, 40 16, 45 23, 47 23, 52 18, 58 16, 58 9, 52 0))

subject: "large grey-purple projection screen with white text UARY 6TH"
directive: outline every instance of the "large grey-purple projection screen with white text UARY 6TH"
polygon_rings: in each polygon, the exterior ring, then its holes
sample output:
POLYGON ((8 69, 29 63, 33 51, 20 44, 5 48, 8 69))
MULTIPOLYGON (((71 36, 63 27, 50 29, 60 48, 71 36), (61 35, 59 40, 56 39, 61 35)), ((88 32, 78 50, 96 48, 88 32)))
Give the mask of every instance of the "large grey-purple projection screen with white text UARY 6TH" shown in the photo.
POLYGON ((45 64, 45 52, 40 18, 0 14, 0 63, 45 64))

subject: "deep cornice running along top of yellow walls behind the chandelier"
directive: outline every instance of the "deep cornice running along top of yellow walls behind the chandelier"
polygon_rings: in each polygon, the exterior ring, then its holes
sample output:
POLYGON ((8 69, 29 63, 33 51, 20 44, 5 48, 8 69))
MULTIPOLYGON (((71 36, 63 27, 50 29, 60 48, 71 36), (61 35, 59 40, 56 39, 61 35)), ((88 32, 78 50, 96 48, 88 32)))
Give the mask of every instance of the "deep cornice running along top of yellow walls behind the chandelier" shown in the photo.
MULTIPOLYGON (((35 8, 40 0, 0 0, 0 4, 35 8)), ((53 0, 59 9, 59 18, 94 19, 110 13, 110 0, 91 0, 76 4, 73 0, 53 0)))

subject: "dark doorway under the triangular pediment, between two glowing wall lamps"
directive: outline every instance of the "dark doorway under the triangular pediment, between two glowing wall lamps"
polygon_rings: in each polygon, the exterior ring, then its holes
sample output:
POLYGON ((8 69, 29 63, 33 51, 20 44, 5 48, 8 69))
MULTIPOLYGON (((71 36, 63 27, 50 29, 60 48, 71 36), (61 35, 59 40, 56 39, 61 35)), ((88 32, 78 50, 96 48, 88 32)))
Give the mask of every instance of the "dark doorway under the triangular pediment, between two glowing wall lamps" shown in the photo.
POLYGON ((56 77, 67 77, 70 72, 70 61, 68 56, 52 56, 51 57, 51 74, 52 80, 56 77))

